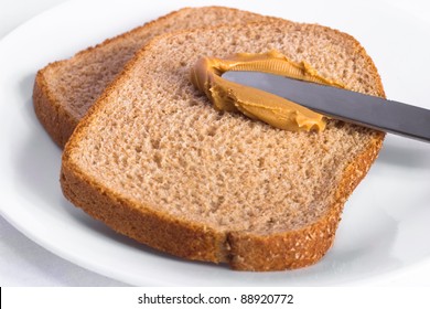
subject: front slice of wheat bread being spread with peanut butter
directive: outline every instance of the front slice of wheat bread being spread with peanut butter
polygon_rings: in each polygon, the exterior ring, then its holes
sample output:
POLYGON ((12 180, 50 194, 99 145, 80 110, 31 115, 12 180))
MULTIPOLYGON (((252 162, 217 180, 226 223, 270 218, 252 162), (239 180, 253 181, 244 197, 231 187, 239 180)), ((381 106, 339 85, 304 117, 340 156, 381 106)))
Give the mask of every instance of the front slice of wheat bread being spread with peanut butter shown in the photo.
POLYGON ((180 257, 276 270, 318 262, 384 134, 329 120, 291 132, 216 111, 189 79, 202 56, 278 50, 347 88, 384 96, 350 35, 271 21, 154 39, 66 145, 65 196, 115 231, 180 257))

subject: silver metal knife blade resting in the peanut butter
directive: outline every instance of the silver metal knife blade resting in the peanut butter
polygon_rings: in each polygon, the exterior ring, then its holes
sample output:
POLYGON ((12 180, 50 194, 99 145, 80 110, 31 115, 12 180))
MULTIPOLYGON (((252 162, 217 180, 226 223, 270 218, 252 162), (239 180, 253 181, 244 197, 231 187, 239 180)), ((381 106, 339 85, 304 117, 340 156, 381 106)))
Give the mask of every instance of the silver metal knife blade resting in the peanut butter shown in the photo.
POLYGON ((335 119, 430 142, 430 110, 422 107, 270 73, 228 71, 222 77, 335 119))

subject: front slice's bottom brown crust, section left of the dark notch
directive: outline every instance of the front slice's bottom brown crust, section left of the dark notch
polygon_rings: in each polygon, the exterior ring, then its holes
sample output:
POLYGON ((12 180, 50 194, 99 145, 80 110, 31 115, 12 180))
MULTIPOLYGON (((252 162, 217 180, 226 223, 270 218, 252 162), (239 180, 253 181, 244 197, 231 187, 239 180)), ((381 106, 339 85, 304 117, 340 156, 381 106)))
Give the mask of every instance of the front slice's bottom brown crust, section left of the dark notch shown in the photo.
MULTIPOLYGON (((68 160, 67 156, 64 160, 68 160)), ((105 191, 96 180, 76 171, 72 164, 64 164, 61 179, 63 192, 90 216, 161 252, 194 260, 225 262, 224 233, 182 222, 149 207, 132 207, 132 202, 105 191)))

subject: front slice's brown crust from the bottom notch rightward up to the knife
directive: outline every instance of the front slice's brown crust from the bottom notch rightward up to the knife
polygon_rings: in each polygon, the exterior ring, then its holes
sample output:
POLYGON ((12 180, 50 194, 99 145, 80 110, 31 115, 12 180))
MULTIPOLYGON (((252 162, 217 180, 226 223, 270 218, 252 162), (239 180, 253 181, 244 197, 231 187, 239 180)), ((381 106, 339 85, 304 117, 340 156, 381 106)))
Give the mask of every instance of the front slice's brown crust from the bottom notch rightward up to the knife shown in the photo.
POLYGON ((336 202, 326 215, 303 230, 268 236, 230 233, 229 264, 238 270, 295 269, 319 262, 333 245, 346 199, 366 175, 383 145, 384 134, 346 169, 336 191, 336 202), (277 258, 273 258, 277 257, 277 258))

